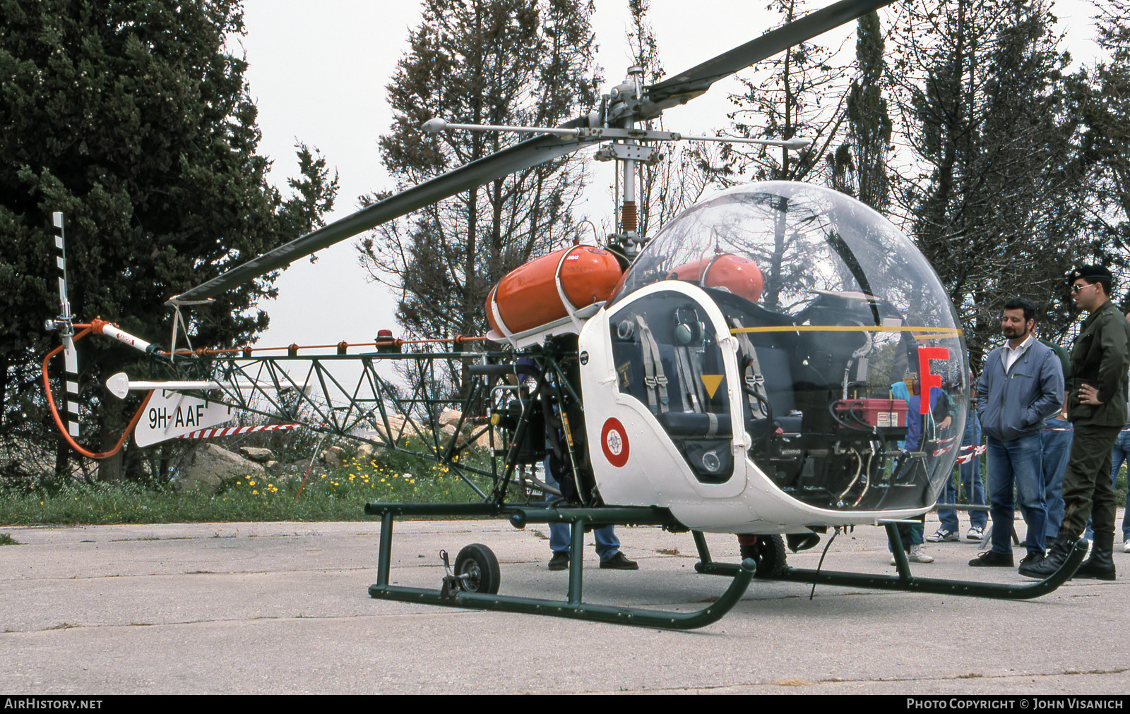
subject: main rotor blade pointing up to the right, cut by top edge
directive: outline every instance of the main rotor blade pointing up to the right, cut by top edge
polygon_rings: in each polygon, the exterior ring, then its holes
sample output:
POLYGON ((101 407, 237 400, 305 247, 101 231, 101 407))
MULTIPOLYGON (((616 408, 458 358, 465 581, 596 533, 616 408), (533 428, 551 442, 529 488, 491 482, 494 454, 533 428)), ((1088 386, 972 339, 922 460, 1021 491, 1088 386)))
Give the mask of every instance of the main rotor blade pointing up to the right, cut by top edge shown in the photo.
POLYGON ((845 23, 878 10, 894 0, 840 0, 822 10, 765 33, 757 40, 724 52, 680 75, 651 85, 645 95, 660 110, 666 110, 697 97, 710 86, 755 62, 771 58, 777 52, 811 40, 840 27, 845 23))

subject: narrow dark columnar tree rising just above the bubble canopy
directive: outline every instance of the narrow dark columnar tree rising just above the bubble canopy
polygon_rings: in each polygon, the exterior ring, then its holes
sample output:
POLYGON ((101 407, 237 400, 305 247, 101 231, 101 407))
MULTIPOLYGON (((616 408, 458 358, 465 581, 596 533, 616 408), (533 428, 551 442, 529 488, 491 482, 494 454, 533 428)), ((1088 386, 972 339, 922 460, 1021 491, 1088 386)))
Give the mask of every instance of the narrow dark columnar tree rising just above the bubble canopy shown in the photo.
POLYGON ((884 212, 890 200, 887 177, 887 151, 890 145, 890 115, 883 96, 885 62, 879 14, 859 18, 855 40, 858 77, 847 92, 846 140, 828 157, 831 185, 884 212))

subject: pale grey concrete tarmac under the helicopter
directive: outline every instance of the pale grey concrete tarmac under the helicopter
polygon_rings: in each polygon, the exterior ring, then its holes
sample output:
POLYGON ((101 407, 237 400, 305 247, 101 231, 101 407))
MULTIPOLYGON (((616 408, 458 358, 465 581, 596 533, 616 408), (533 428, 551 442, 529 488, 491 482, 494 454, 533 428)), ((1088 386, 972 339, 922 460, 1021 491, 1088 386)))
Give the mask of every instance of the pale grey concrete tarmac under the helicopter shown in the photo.
MULTIPOLYGON (((932 515, 932 514, 931 514, 932 515)), ((1018 523, 1023 530, 1023 523, 1018 523)), ((933 532, 937 522, 927 522, 933 532)), ((964 526, 963 526, 964 528, 964 526)), ((372 600, 380 523, 15 528, 0 548, 0 691, 10 694, 1085 694, 1130 693, 1130 554, 1115 582, 994 601, 755 581, 722 620, 670 632, 372 600)), ((689 534, 619 528, 637 572, 600 571, 584 600, 696 610, 689 534)), ((391 580, 437 587, 480 542, 503 594, 566 595, 544 524, 397 522, 391 580)), ((710 536, 737 560, 732 536, 710 536)), ((816 567, 824 548, 790 554, 816 567)), ((916 575, 1019 583, 971 568, 971 542, 927 543, 916 575)), ((1023 555, 1023 554, 1022 554, 1023 555)), ((893 573, 883 529, 838 536, 824 567, 893 573)))

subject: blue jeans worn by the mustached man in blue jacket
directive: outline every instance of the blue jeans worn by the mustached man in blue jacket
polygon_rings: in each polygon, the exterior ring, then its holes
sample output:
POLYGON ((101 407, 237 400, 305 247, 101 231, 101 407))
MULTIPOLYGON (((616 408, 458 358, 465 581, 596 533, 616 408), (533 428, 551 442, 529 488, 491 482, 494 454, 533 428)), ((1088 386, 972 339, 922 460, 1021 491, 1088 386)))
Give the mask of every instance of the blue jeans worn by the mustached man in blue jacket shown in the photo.
POLYGON ((1015 514, 1012 489, 1020 515, 1028 524, 1025 541, 1028 552, 1044 551, 1044 479, 1042 465, 1042 432, 1033 432, 1010 442, 988 439, 989 499, 992 505, 992 550, 1012 552, 1012 519, 1015 514))

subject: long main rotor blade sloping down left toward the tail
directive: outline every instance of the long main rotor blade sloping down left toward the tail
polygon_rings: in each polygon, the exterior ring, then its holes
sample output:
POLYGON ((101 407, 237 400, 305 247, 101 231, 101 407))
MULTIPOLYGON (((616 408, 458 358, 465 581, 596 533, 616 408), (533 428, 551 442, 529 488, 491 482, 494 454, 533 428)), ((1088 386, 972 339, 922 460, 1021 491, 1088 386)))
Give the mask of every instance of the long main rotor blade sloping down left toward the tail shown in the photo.
MULTIPOLYGON (((586 120, 582 117, 567 122, 563 127, 577 128, 586 123, 586 120)), ((599 141, 598 138, 574 139, 555 134, 541 134, 527 139, 322 226, 205 284, 181 293, 176 299, 200 301, 215 297, 247 280, 289 265, 315 251, 351 238, 365 230, 371 230, 393 218, 399 218, 462 191, 476 189, 490 181, 565 156, 599 141)))

